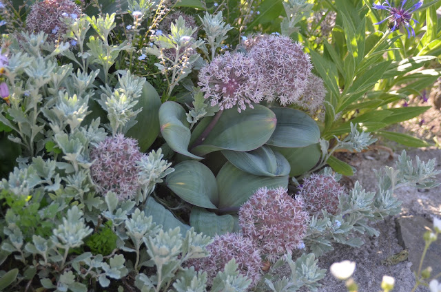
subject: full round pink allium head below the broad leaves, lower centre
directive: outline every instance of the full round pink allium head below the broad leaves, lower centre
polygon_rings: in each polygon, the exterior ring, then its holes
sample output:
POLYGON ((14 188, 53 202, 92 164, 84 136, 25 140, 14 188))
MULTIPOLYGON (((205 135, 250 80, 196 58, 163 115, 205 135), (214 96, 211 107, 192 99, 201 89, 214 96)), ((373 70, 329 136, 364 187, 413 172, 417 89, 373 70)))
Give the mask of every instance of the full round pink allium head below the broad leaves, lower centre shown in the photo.
POLYGON ((309 220, 303 207, 303 200, 292 198, 283 187, 262 187, 240 207, 239 225, 267 260, 275 262, 280 255, 303 247, 309 220))

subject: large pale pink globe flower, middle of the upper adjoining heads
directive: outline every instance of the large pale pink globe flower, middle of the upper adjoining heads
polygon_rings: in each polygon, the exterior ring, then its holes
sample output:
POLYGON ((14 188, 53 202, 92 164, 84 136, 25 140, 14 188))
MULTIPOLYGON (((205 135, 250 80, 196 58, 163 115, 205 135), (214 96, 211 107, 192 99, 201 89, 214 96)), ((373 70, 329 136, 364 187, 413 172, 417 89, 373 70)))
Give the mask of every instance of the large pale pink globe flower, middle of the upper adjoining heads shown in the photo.
POLYGON ((263 74, 263 94, 267 101, 278 98, 281 105, 289 105, 305 92, 312 64, 300 43, 287 36, 261 37, 249 56, 263 74))

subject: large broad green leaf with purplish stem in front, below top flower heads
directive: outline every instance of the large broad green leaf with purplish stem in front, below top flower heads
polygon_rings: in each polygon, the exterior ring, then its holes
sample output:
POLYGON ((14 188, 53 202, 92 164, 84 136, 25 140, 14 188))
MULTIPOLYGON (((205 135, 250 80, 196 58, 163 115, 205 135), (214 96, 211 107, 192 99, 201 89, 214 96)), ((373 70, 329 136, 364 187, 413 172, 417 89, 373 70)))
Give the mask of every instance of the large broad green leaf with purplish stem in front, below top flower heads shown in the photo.
MULTIPOLYGON (((243 112, 225 110, 203 140, 192 149, 196 155, 218 150, 251 151, 264 145, 276 128, 276 115, 263 105, 254 105, 243 112)), ((194 131, 198 131, 197 127, 194 131)))

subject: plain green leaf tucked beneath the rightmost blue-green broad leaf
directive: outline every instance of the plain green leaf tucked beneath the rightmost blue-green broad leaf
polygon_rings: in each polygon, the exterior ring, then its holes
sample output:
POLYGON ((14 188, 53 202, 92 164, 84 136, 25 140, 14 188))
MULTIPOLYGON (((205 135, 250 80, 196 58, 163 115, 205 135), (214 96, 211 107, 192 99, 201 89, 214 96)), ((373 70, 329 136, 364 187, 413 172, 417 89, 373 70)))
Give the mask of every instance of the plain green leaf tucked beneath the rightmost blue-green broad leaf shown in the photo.
POLYGON ((301 174, 305 174, 306 171, 316 165, 322 154, 318 144, 301 148, 272 147, 272 149, 280 152, 280 154, 285 156, 288 160, 288 163, 291 166, 289 176, 300 176, 301 174))

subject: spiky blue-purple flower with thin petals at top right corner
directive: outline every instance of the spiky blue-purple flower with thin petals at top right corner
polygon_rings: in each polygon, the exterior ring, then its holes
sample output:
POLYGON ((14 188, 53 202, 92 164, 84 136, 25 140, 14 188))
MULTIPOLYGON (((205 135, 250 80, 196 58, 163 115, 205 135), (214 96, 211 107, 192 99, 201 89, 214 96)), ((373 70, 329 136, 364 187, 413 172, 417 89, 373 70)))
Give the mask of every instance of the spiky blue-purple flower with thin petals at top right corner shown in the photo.
MULTIPOLYGON (((399 30, 401 26, 403 25, 404 28, 407 30, 407 37, 410 39, 411 35, 415 36, 415 30, 413 30, 411 21, 413 21, 413 24, 415 24, 415 19, 411 18, 412 13, 420 8, 422 6, 422 1, 418 1, 417 3, 413 4, 413 6, 409 9, 404 8, 404 5, 406 4, 407 0, 401 1, 401 6, 399 7, 393 7, 391 6, 391 3, 389 3, 388 0, 385 0, 380 4, 373 4, 374 9, 378 10, 387 10, 389 12, 389 17, 386 17, 382 21, 378 23, 373 24, 380 24, 384 21, 389 20, 389 28, 391 28, 391 31, 399 30), (391 27, 392 26, 392 27, 391 27), (410 30, 409 30, 410 28, 410 30)), ((393 2, 392 2, 393 3, 393 2)))

